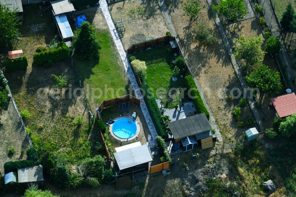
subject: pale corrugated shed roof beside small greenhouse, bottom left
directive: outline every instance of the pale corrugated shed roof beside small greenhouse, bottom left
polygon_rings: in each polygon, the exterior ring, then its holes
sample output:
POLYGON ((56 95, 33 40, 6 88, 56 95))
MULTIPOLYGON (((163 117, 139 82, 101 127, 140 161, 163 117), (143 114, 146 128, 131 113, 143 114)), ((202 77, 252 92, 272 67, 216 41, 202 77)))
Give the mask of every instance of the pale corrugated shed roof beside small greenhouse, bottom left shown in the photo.
POLYGON ((17 173, 19 183, 39 182, 44 180, 43 169, 41 165, 19 168, 17 173))

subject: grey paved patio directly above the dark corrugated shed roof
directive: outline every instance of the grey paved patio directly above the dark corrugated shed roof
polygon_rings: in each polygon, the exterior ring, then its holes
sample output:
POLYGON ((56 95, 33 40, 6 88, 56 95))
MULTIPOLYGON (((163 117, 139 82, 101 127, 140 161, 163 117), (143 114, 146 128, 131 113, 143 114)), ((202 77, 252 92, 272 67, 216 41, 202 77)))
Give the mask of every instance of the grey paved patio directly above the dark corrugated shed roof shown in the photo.
MULTIPOLYGON (((157 102, 159 103, 159 102, 157 102)), ((182 106, 181 110, 178 107, 178 109, 165 109, 165 112, 163 115, 168 115, 172 121, 179 120, 182 118, 186 118, 189 114, 189 112, 194 115, 194 112, 197 111, 193 102, 189 101, 184 103, 184 106, 182 106)))

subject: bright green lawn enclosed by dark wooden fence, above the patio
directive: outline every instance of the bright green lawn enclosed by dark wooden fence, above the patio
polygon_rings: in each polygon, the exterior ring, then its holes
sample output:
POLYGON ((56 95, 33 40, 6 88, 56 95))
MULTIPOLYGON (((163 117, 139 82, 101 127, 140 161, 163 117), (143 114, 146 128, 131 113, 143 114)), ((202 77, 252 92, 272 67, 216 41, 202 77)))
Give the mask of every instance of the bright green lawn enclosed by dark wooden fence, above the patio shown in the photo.
MULTIPOLYGON (((146 82, 152 89, 155 98, 160 98, 166 108, 172 109, 179 104, 181 98, 181 88, 185 88, 185 80, 180 75, 177 81, 172 81, 171 59, 174 53, 167 46, 160 46, 154 49, 140 51, 135 54, 136 59, 145 61, 147 64, 146 82), (159 88, 164 88, 163 90, 159 88), (169 89, 172 90, 169 96, 169 89), (159 90, 158 92, 156 90, 159 90)), ((185 91, 184 95, 187 94, 185 91)), ((188 97, 182 98, 183 102, 188 101, 188 97)))

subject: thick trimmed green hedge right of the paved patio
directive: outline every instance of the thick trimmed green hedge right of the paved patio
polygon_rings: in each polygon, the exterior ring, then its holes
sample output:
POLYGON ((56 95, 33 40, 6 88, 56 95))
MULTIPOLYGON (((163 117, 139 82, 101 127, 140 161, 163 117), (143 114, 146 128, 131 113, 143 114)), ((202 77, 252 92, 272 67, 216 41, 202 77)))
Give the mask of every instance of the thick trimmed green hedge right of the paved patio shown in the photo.
POLYGON ((202 97, 200 96, 200 92, 197 90, 194 79, 191 75, 185 77, 186 87, 189 89, 192 88, 191 96, 196 97, 196 99, 192 99, 196 109, 199 113, 205 113, 207 120, 210 119, 210 113, 207 111, 205 104, 202 101, 202 97))

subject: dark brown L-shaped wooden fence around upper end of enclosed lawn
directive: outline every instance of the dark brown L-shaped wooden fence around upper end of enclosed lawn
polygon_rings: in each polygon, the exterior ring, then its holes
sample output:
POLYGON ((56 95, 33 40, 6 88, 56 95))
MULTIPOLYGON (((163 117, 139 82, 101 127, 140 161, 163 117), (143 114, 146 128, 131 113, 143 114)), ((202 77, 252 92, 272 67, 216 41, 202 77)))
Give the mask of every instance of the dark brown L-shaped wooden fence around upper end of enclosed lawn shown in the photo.
MULTIPOLYGON (((182 50, 180 48, 180 45, 179 45, 176 37, 173 36, 173 35, 166 35, 166 36, 163 36, 163 37, 154 38, 154 39, 151 39, 151 40, 146 40, 146 41, 143 41, 143 42, 135 43, 132 46, 130 46, 127 51, 128 51, 128 53, 134 53, 136 51, 141 51, 141 50, 152 48, 152 47, 159 46, 159 45, 162 45, 162 44, 170 44, 170 41, 175 41, 176 50, 179 52, 179 55, 181 55, 184 58, 183 52, 182 52, 182 50)), ((188 75, 192 75, 192 72, 189 70, 186 61, 185 61, 185 70, 188 73, 188 75)))

